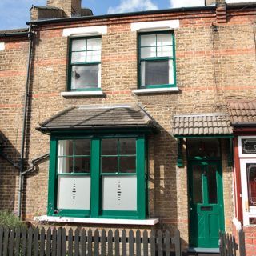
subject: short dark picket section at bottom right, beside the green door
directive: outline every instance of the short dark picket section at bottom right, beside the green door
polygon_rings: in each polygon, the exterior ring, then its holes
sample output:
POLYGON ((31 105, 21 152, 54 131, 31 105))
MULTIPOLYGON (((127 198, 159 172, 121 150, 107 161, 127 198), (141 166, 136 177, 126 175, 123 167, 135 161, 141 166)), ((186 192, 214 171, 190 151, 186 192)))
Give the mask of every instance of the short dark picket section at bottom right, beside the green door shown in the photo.
POLYGON ((242 230, 239 230, 238 239, 239 239, 239 246, 235 241, 234 235, 227 234, 225 232, 220 231, 219 233, 220 238, 220 255, 221 256, 236 256, 237 250, 239 249, 239 255, 245 256, 245 235, 242 230))

